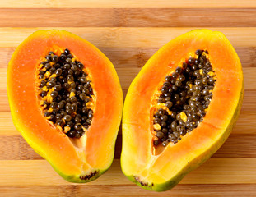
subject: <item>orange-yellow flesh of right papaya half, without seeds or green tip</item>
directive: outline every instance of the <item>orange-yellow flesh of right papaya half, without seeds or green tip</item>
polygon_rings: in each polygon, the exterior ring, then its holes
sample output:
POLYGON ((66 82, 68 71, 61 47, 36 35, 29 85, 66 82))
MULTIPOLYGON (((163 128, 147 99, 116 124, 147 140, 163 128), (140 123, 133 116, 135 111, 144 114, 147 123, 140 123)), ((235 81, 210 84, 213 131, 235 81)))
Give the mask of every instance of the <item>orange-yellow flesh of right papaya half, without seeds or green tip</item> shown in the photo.
POLYGON ((197 157, 200 160, 200 155, 212 149, 226 135, 242 89, 240 60, 223 34, 194 30, 170 41, 151 57, 128 90, 123 109, 121 163, 124 174, 139 176, 149 184, 161 184, 170 181, 197 157), (175 71, 184 62, 184 57, 189 57, 197 49, 207 49, 217 79, 207 114, 198 127, 184 135, 179 143, 170 143, 165 149, 161 148, 161 153, 154 155, 151 151, 150 111, 153 95, 165 76, 175 71), (127 163, 133 163, 133 166, 127 163))

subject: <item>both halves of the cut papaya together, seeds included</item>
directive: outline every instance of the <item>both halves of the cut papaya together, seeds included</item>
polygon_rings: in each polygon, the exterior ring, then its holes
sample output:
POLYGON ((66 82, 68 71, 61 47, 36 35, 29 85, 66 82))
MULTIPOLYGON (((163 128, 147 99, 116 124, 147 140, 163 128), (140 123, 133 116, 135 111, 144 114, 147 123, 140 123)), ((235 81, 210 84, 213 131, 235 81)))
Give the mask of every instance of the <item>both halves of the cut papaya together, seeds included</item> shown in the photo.
POLYGON ((38 31, 9 63, 13 121, 67 181, 92 181, 113 161, 147 190, 168 190, 224 143, 240 112, 243 74, 226 37, 193 30, 161 48, 133 80, 123 108, 114 66, 86 40, 38 31))

